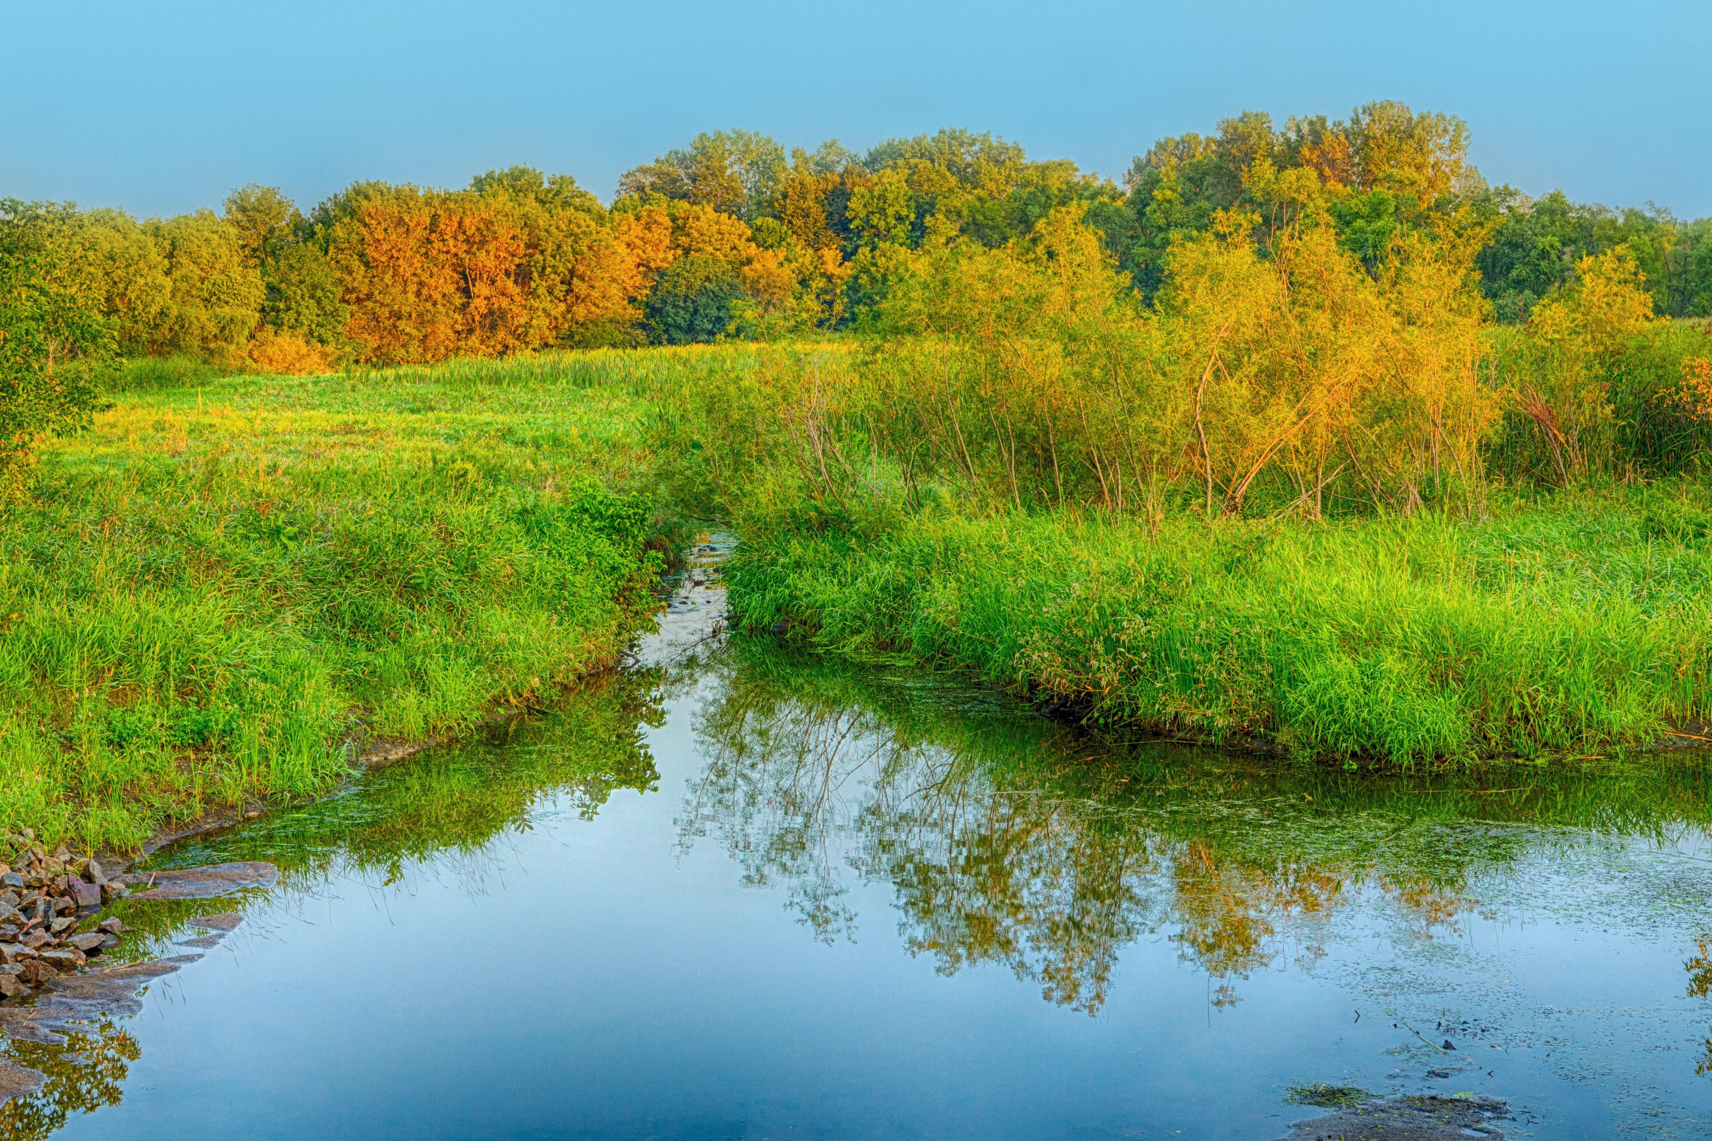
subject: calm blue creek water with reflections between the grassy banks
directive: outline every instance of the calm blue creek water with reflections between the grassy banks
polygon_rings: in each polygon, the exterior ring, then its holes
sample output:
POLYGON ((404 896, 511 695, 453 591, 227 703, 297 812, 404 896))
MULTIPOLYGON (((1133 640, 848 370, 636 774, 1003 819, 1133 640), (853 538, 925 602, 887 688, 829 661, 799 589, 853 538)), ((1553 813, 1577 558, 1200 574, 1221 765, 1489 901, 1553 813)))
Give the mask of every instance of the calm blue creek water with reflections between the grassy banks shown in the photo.
POLYGON ((1315 1083, 1712 1136, 1705 756, 1099 737, 724 644, 712 577, 548 716, 158 853, 282 877, 122 905, 202 958, 0 1045, 50 1078, 0 1138, 1263 1139, 1315 1083))

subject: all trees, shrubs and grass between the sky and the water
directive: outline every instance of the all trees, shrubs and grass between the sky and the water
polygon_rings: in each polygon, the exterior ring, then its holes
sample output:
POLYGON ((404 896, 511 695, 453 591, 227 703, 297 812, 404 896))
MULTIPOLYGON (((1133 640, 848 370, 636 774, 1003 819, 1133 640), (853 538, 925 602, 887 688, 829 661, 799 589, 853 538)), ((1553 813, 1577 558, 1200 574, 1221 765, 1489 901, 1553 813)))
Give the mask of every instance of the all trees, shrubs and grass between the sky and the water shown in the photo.
POLYGON ((1493 188, 1445 115, 1245 113, 1123 187, 722 132, 609 206, 512 168, 0 242, 0 829, 135 850, 538 708, 709 519, 746 637, 1097 725, 1705 737, 1705 226, 1493 188))

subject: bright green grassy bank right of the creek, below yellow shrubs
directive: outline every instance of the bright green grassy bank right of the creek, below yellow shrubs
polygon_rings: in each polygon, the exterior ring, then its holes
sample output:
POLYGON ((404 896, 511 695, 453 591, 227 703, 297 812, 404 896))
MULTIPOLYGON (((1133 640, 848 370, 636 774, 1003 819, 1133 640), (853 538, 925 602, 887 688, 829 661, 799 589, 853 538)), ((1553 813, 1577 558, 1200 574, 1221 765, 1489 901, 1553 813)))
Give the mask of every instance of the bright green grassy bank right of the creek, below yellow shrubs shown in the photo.
POLYGON ((1104 723, 1395 762, 1597 754, 1707 716, 1712 493, 1442 516, 782 523, 738 615, 849 660, 974 672, 1104 723))

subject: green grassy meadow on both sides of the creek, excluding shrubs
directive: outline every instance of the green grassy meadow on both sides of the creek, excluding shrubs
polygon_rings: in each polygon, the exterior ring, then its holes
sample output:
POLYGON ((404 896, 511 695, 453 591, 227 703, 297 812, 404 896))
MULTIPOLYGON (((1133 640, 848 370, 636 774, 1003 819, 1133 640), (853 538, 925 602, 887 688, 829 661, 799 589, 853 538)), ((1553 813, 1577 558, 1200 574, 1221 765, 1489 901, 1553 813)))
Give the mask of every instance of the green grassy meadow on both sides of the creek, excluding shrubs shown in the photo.
POLYGON ((1404 766, 1700 740, 1693 475, 1496 476, 1472 509, 1320 517, 1274 511, 1299 507, 1282 483, 1234 517, 1193 487, 1162 516, 1019 507, 955 471, 911 480, 835 420, 868 397, 832 379, 887 353, 132 365, 0 524, 0 829, 128 848, 325 793, 377 740, 541 708, 618 661, 712 519, 743 538, 750 637, 964 672, 1089 723, 1404 766))

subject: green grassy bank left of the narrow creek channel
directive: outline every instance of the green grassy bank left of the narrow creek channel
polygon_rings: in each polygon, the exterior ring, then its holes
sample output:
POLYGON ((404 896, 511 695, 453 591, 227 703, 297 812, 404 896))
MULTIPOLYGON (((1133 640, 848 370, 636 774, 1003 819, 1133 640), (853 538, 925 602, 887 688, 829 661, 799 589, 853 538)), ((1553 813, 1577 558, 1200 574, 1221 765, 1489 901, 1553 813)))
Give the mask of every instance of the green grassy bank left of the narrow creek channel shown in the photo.
POLYGON ((608 663, 671 529, 592 353, 113 394, 0 521, 0 829, 128 846, 608 663))

